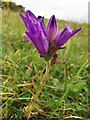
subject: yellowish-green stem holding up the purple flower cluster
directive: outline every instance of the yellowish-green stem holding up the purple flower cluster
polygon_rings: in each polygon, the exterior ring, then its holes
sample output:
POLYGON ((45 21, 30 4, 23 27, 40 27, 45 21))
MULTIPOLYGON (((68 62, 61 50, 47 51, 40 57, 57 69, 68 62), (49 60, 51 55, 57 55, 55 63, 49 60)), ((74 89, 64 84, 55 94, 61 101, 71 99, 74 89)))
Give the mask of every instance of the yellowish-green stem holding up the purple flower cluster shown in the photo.
POLYGON ((29 103, 27 109, 26 109, 26 114, 28 116, 28 119, 31 117, 31 112, 34 108, 34 105, 35 105, 35 102, 37 101, 39 95, 40 95, 40 92, 46 82, 46 78, 47 78, 47 75, 49 73, 49 61, 47 61, 47 65, 46 65, 46 72, 45 72, 45 75, 43 76, 42 80, 41 80, 41 83, 40 83, 40 87, 36 93, 36 95, 33 95, 32 98, 31 98, 31 102, 29 103))

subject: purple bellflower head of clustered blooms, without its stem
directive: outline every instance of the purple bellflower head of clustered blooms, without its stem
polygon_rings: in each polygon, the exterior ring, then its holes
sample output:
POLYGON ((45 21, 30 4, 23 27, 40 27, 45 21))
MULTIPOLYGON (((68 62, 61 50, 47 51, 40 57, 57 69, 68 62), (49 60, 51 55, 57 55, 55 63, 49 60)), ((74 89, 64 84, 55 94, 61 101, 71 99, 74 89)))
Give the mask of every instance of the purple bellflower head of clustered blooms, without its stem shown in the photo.
POLYGON ((57 33, 57 22, 53 15, 45 27, 44 17, 36 17, 31 11, 26 11, 26 17, 19 14, 26 26, 25 39, 34 44, 40 56, 51 59, 52 63, 56 61, 56 51, 61 48, 73 35, 81 30, 81 28, 73 30, 70 23, 57 33))

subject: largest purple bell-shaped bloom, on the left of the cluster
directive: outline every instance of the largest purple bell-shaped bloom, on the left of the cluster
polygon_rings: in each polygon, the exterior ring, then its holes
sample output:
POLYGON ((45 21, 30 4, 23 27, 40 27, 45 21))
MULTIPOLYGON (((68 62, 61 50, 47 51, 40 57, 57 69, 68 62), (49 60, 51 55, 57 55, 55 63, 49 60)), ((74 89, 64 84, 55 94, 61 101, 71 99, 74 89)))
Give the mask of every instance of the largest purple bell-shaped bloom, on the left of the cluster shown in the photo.
POLYGON ((22 14, 19 15, 27 28, 25 33, 28 37, 25 36, 24 38, 31 41, 41 55, 46 55, 48 53, 49 45, 45 35, 46 32, 44 29, 46 28, 44 26, 43 18, 39 20, 29 10, 26 11, 26 17, 22 14))

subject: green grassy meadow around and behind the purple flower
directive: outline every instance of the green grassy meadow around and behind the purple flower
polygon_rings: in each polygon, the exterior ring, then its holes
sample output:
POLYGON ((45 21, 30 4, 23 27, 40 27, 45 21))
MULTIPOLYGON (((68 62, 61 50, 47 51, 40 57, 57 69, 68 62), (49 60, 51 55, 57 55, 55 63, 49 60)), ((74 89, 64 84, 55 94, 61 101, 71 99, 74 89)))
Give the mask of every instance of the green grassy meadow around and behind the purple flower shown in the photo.
MULTIPOLYGON (((2 105, 3 119, 26 119, 23 108, 40 84, 45 62, 35 47, 23 37, 25 26, 18 12, 2 12, 2 105), (34 88, 22 84, 34 80, 34 88), (31 90, 31 92, 30 92, 31 90)), ((48 20, 45 19, 47 25, 48 20)), ((47 82, 39 96, 32 120, 60 120, 70 116, 90 118, 88 97, 88 25, 57 20, 58 31, 67 22, 82 30, 73 36, 64 50, 58 51, 58 61, 51 67, 47 82), (64 64, 66 62, 66 64, 64 64)), ((0 62, 1 63, 1 62, 0 62)))

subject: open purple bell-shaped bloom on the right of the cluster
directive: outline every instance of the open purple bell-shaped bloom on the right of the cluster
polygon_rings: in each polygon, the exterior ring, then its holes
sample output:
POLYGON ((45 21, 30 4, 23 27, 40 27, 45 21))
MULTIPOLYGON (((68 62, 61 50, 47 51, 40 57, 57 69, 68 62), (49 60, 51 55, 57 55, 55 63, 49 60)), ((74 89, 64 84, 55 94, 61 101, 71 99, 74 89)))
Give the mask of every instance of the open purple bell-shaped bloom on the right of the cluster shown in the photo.
POLYGON ((57 34, 55 44, 58 47, 62 46, 63 44, 67 42, 69 38, 71 38, 74 34, 79 32, 80 30, 81 28, 73 31, 73 29, 71 29, 70 27, 70 23, 67 23, 65 28, 60 30, 59 33, 57 34))

